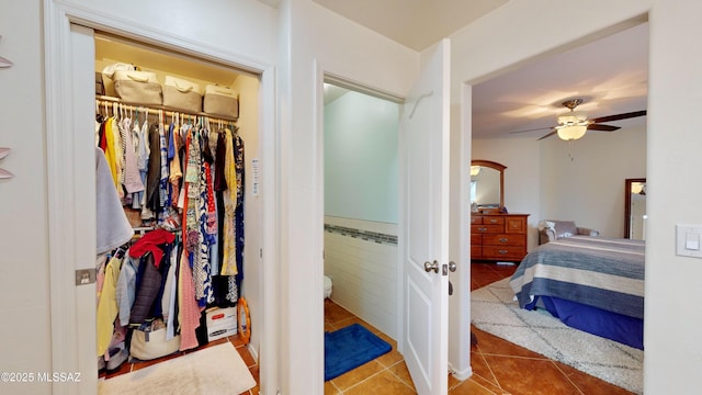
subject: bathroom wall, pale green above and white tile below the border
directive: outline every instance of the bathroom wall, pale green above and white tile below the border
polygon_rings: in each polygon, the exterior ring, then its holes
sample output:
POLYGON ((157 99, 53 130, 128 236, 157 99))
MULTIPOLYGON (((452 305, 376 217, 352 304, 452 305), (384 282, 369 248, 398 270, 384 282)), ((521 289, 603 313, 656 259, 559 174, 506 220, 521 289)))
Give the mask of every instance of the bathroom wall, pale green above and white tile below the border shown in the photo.
POLYGON ((331 280, 330 300, 397 339, 400 104, 330 78, 324 99, 324 272, 331 280))

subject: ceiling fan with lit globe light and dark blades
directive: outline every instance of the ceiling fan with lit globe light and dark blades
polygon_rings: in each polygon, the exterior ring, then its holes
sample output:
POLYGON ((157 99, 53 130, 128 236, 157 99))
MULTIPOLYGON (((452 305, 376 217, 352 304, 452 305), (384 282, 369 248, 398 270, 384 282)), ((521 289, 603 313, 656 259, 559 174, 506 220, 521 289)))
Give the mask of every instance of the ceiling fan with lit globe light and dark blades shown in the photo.
MULTIPOLYGON (((613 132, 621 128, 620 126, 604 125, 603 124, 604 122, 621 121, 621 120, 646 115, 646 111, 643 110, 643 111, 634 111, 634 112, 616 114, 616 115, 600 116, 600 117, 588 120, 588 116, 586 113, 580 111, 575 111, 575 109, 581 103, 582 103, 582 99, 579 99, 579 98, 564 101, 562 104, 565 108, 569 109, 570 112, 558 115, 557 117, 558 125, 551 127, 552 128, 551 133, 542 136, 539 139, 542 140, 544 138, 547 138, 557 134, 558 137, 561 137, 561 139, 575 140, 585 136, 585 133, 587 131, 613 132)), ((510 134, 534 132, 539 129, 541 128, 510 132, 510 134)))

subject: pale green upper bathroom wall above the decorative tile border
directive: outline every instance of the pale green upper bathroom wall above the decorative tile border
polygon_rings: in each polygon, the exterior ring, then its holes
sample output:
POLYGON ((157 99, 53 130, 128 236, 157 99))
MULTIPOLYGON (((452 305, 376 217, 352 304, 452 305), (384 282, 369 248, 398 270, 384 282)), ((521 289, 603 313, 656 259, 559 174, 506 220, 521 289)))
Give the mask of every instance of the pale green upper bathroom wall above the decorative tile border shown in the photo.
POLYGON ((397 224, 399 104, 350 91, 324 113, 325 215, 397 224))

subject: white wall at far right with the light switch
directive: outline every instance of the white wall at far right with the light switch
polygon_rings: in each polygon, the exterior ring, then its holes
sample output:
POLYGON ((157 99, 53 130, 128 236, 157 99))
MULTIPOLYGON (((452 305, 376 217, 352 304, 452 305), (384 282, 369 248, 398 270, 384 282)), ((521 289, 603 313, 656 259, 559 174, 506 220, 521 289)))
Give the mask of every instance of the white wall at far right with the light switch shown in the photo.
POLYGON ((702 135, 686 120, 702 105, 702 3, 656 1, 650 12, 644 390, 692 394, 702 365, 702 261, 675 255, 676 224, 702 224, 702 135))

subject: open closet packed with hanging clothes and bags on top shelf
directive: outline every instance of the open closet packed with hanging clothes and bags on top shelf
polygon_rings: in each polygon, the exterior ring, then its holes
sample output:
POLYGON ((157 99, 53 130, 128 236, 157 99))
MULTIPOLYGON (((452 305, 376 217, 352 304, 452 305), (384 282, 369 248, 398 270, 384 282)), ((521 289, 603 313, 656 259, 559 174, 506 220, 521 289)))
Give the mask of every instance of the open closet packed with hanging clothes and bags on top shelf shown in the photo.
POLYGON ((230 343, 248 394, 263 275, 259 76, 107 33, 94 49, 101 391, 230 343))

